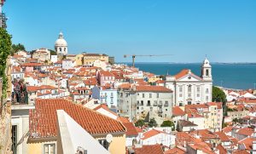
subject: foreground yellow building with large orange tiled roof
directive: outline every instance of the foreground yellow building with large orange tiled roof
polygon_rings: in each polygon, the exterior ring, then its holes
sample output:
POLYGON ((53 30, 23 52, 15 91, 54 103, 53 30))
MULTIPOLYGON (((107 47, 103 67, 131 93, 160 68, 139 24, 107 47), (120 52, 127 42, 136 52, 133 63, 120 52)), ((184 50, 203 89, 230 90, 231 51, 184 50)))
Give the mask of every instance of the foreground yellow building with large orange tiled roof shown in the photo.
POLYGON ((125 154, 125 127, 122 123, 84 106, 61 99, 36 101, 35 110, 30 112, 27 153, 60 153, 57 145, 60 134, 58 134, 56 110, 66 111, 111 154, 125 154), (106 140, 108 134, 113 136, 110 143, 106 140))

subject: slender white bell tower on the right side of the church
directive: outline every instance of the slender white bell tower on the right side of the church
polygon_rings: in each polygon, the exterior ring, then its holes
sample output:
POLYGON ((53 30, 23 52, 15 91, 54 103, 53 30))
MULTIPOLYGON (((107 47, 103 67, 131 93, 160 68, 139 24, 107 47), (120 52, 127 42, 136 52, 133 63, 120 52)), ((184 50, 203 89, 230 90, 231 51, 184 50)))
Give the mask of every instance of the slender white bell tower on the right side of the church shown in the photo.
POLYGON ((212 81, 212 66, 207 57, 201 65, 201 77, 205 81, 212 81))

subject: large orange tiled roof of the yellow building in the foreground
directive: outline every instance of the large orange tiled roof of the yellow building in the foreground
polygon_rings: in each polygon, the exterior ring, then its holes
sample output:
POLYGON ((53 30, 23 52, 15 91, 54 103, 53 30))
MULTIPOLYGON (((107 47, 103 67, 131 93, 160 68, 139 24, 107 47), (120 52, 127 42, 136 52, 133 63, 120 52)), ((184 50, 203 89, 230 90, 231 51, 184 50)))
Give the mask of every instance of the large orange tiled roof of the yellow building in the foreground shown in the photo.
POLYGON ((36 100, 35 110, 30 111, 31 138, 56 137, 56 110, 64 110, 90 134, 108 134, 122 132, 125 127, 118 121, 102 114, 73 104, 68 100, 36 100))

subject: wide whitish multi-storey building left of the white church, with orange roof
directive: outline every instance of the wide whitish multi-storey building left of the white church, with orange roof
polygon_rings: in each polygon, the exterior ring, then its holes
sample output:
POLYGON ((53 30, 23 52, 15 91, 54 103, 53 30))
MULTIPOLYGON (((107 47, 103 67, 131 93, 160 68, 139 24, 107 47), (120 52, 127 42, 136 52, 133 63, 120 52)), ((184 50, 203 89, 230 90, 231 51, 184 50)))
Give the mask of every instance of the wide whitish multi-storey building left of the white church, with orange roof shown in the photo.
POLYGON ((158 124, 172 117, 172 90, 161 86, 119 86, 119 114, 130 119, 149 117, 158 124))

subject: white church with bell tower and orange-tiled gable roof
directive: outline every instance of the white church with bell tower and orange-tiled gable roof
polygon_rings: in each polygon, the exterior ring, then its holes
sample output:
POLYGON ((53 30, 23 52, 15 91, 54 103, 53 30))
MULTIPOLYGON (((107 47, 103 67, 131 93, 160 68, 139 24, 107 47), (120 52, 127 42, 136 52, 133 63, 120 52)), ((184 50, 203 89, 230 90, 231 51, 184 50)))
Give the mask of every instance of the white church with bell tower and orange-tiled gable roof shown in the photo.
POLYGON ((174 91, 175 106, 203 104, 212 101, 212 66, 204 60, 201 66, 201 77, 191 70, 184 69, 175 76, 166 76, 166 88, 174 91))

